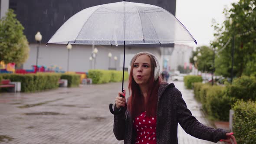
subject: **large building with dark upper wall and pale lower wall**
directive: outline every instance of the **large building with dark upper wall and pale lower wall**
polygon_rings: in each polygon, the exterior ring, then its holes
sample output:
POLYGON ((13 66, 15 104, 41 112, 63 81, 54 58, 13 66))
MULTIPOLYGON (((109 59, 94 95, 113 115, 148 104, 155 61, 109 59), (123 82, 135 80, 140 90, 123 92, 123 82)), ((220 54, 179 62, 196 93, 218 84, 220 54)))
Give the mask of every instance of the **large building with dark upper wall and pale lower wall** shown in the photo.
MULTIPOLYGON (((47 41, 75 13, 99 4, 114 3, 120 0, 0 0, 0 15, 7 11, 7 7, 14 10, 17 19, 25 27, 24 34, 30 43, 30 56, 23 64, 23 69, 32 69, 32 65, 36 65, 37 44, 35 34, 39 31, 43 39, 39 46, 38 65, 51 66, 57 65, 62 70, 67 70, 68 50, 66 45, 50 44, 46 46, 47 41)), ((147 3, 163 7, 175 16, 176 0, 129 0, 129 2, 147 3)), ((176 45, 175 45, 176 47, 176 45)), ((175 48, 176 49, 176 48, 175 48)), ((163 68, 164 59, 176 59, 171 56, 175 52, 174 44, 167 45, 138 45, 126 46, 125 68, 131 57, 138 52, 148 51, 154 53, 159 61, 160 67, 163 68)), ((179 49, 179 48, 177 48, 179 49)), ((178 58, 185 58, 183 56, 178 58)), ((178 59, 177 58, 177 59, 178 59)), ((177 62, 184 63, 185 60, 177 60, 169 62, 171 67, 177 67, 177 62)), ((103 45, 72 45, 69 51, 69 71, 87 72, 89 69, 117 69, 123 67, 123 46, 103 46, 103 45), (95 59, 92 61, 89 57, 92 55, 93 47, 98 49, 95 59), (112 53, 112 57, 108 57, 108 53, 112 53), (117 57, 117 60, 114 59, 117 57)))

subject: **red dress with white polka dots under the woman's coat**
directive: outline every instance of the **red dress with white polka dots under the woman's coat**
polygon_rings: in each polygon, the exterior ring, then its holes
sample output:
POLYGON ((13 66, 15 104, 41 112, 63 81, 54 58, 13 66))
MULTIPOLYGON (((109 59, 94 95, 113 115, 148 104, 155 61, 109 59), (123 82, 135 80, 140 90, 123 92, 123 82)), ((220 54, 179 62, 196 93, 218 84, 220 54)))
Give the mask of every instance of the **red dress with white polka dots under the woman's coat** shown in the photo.
POLYGON ((156 144, 156 117, 146 117, 146 111, 133 120, 137 132, 135 144, 156 144))

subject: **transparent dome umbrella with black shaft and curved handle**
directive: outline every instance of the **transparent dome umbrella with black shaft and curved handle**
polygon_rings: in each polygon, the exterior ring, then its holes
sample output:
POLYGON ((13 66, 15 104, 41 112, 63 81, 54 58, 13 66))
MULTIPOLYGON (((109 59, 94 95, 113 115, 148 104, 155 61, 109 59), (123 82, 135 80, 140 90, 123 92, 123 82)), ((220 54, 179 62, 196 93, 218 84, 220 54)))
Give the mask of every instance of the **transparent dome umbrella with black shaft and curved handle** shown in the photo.
MULTIPOLYGON (((186 43, 197 41, 185 26, 161 7, 131 2, 117 2, 89 7, 67 20, 48 41, 59 44, 125 45, 186 43)), ((47 45, 47 44, 46 44, 47 45)), ((112 114, 120 114, 112 110, 112 114)))

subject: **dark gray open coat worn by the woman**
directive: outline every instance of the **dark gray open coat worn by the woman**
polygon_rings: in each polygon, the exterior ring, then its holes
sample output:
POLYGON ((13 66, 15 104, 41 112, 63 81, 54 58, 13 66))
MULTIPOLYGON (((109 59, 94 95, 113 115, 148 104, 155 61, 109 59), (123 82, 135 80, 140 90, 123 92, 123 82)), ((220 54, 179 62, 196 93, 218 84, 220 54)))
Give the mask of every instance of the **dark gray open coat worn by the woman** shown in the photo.
MULTIPOLYGON (((114 110, 116 109, 115 106, 114 110)), ((191 136, 212 142, 226 139, 226 131, 209 128, 192 116, 181 92, 175 88, 173 83, 162 83, 158 90, 157 144, 178 144, 178 123, 191 136)), ((124 144, 135 144, 136 131, 127 108, 125 113, 114 115, 114 134, 119 141, 124 140, 124 144)))

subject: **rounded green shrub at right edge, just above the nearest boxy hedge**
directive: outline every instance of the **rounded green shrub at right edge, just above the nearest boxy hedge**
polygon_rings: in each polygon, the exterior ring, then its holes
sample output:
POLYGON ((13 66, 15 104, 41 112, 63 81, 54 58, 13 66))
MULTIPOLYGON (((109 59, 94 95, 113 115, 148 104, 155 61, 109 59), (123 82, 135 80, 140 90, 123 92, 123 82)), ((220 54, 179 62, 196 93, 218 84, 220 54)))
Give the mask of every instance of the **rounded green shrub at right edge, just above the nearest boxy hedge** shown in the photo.
POLYGON ((226 86, 226 95, 243 100, 256 101, 256 78, 242 76, 226 86))

